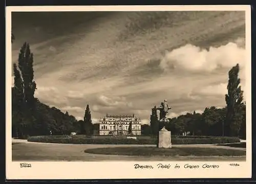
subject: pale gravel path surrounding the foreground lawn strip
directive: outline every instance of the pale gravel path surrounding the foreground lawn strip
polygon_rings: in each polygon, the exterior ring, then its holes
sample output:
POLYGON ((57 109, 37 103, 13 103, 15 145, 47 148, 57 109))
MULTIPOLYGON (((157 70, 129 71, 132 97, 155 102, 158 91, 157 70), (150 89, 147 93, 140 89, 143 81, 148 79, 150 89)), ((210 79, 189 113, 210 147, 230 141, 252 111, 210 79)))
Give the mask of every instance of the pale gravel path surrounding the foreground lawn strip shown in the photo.
MULTIPOLYGON (((84 153, 86 149, 104 148, 104 147, 146 147, 155 145, 74 145, 74 144, 53 144, 53 143, 32 143, 27 140, 13 140, 12 160, 30 160, 30 161, 148 161, 148 160, 245 160, 245 156, 185 156, 185 157, 168 157, 168 156, 125 156, 125 155, 104 155, 84 153)), ((240 149, 227 146, 216 145, 173 145, 173 147, 209 147, 223 149, 240 149)))

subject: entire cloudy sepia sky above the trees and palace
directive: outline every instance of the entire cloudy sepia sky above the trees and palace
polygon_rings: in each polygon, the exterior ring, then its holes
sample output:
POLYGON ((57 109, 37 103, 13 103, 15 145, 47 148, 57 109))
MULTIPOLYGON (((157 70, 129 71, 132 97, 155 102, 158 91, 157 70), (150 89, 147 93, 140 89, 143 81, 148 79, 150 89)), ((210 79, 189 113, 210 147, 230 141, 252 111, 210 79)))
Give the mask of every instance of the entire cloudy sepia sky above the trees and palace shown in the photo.
POLYGON ((93 123, 135 114, 149 124, 164 99, 170 118, 225 106, 228 71, 245 85, 245 12, 12 12, 12 63, 28 42, 35 97, 93 123))

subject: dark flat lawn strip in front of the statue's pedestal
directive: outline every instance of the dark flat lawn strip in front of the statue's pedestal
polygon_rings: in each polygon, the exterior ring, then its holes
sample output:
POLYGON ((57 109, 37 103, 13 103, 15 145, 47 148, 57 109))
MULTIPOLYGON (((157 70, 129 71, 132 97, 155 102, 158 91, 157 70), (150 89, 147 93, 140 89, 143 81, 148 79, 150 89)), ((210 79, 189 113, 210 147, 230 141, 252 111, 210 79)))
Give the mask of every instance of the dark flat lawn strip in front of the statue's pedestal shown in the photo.
POLYGON ((84 152, 94 154, 128 155, 128 156, 244 156, 246 151, 223 148, 193 147, 112 147, 87 149, 84 152))

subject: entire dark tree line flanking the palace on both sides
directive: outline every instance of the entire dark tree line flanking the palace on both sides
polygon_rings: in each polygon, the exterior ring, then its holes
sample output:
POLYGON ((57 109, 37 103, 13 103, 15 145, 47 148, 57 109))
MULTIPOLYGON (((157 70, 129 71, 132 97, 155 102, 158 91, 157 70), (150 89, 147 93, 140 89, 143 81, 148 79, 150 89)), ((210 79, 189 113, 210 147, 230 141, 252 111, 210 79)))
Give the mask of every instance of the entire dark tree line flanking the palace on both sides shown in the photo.
MULTIPOLYGON (((14 40, 12 34, 12 42, 14 40)), ((84 111, 83 120, 77 121, 68 112, 63 113, 56 107, 41 103, 34 97, 36 82, 34 81, 33 54, 28 43, 24 43, 19 51, 18 63, 13 64, 14 86, 12 87, 12 136, 27 137, 33 135, 65 135, 71 132, 95 134, 99 124, 92 124, 89 105, 84 111)), ((229 80, 226 107, 206 107, 202 114, 187 113, 169 119, 166 129, 174 135, 184 132, 190 135, 214 136, 246 136, 246 104, 243 101, 239 65, 233 66, 228 73, 229 80)), ((152 108, 150 125, 142 125, 142 134, 157 135, 163 127, 158 121, 156 106, 152 108)), ((131 127, 129 126, 129 132, 131 127)))

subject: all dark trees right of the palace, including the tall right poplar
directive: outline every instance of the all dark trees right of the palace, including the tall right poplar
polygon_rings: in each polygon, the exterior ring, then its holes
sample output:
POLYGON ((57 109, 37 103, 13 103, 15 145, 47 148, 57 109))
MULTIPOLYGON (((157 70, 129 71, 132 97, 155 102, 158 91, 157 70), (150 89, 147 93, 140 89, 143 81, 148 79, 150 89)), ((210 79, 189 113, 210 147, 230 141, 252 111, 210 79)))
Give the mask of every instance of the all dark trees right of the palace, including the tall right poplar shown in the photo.
MULTIPOLYGON (((166 129, 174 135, 212 135, 212 136, 240 136, 246 137, 246 104, 241 90, 239 64, 233 66, 228 73, 229 80, 226 106, 224 108, 206 107, 202 114, 186 113, 169 119, 166 129)), ((156 106, 152 108, 150 125, 143 125, 143 134, 157 135, 163 127, 158 121, 156 106)))

